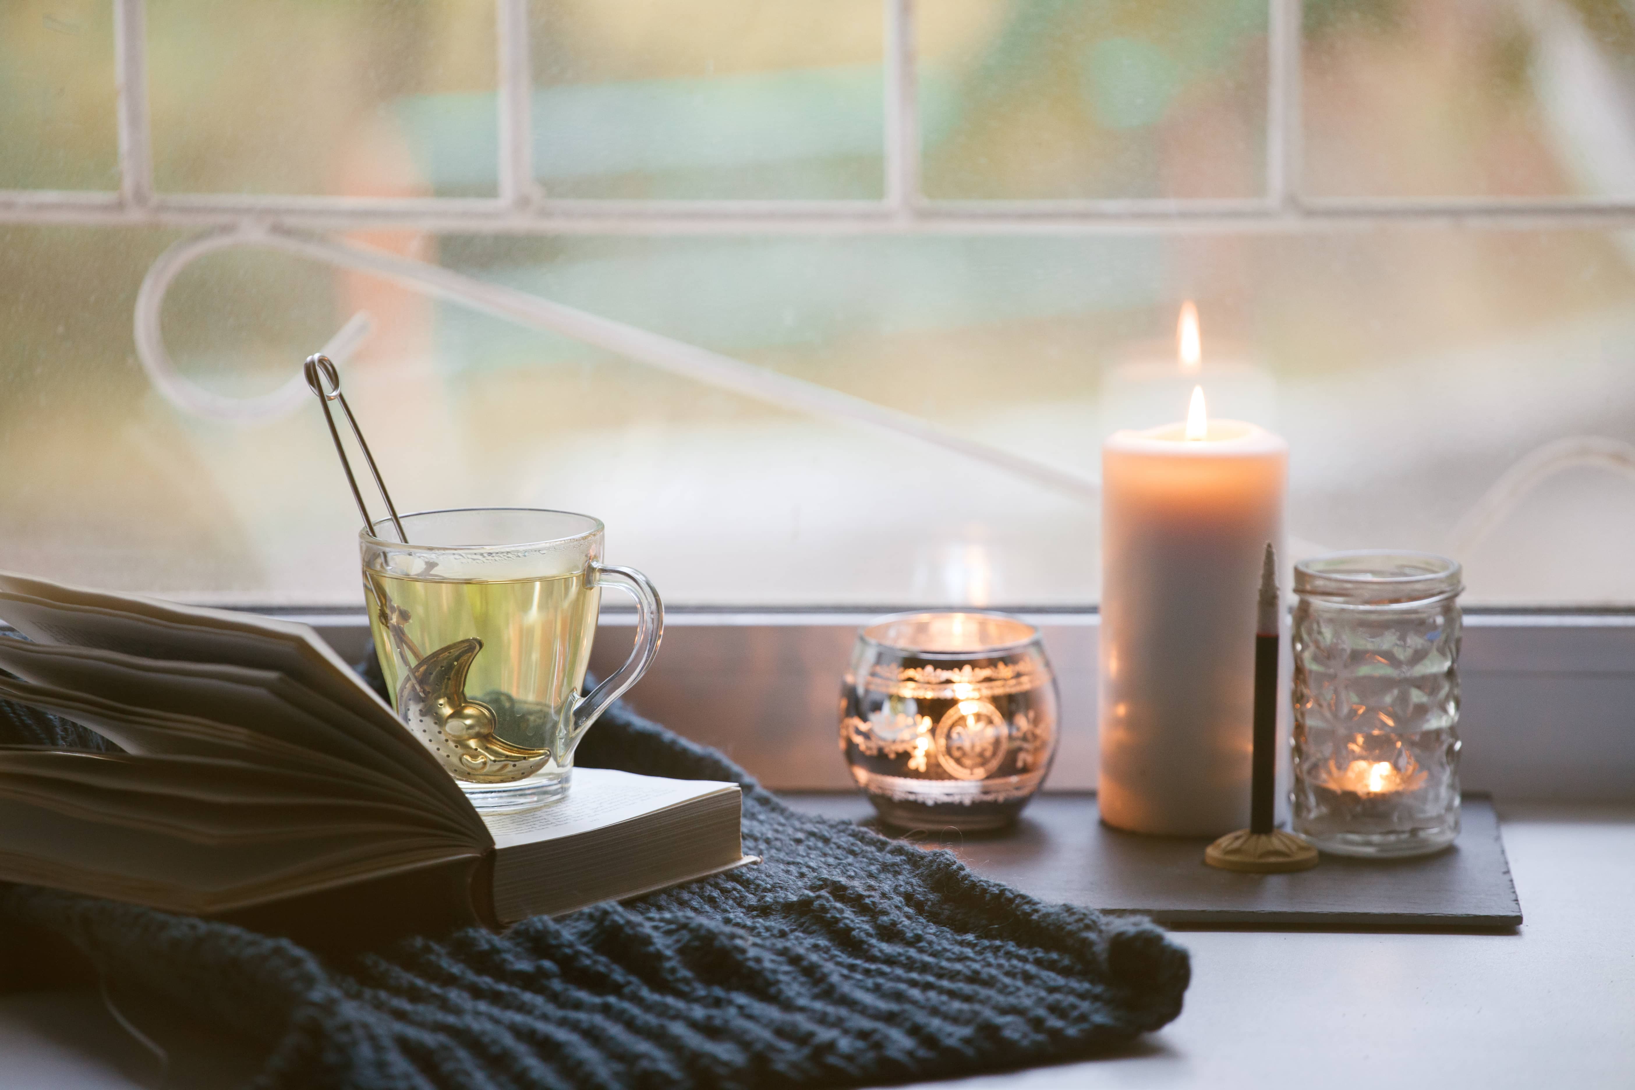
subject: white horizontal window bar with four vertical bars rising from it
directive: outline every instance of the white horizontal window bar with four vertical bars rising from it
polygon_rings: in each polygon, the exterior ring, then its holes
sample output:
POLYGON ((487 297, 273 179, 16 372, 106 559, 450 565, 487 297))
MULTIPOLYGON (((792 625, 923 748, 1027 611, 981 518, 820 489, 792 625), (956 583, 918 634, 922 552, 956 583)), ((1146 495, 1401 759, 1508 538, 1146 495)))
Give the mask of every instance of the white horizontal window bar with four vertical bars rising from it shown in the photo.
POLYGON ((0 222, 448 234, 1189 234, 1380 226, 1530 230, 1627 227, 1635 198, 1311 198, 1301 190, 1301 0, 1267 0, 1265 186, 1259 198, 930 199, 921 186, 916 0, 885 15, 885 196, 832 201, 558 199, 535 181, 528 0, 495 0, 499 186, 494 198, 159 193, 147 106, 146 0, 111 0, 119 190, 0 190, 0 222))

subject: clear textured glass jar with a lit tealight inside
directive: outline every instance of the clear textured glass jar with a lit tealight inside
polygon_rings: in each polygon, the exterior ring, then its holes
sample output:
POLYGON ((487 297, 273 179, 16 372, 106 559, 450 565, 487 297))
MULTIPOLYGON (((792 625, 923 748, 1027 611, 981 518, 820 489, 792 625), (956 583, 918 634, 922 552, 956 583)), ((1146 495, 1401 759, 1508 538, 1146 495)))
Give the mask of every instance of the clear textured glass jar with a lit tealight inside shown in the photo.
POLYGON ((1429 552, 1295 565, 1293 830, 1409 856, 1458 837, 1460 567, 1429 552))

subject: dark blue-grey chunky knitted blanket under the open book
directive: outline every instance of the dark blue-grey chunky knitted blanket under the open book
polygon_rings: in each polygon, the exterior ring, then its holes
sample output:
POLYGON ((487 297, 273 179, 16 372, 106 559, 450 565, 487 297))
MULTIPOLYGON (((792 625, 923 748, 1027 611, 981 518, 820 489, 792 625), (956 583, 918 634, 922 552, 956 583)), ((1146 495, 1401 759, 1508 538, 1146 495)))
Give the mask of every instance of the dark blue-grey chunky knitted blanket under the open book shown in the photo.
MULTIPOLYGON (((96 747, 0 714, 0 742, 96 747)), ((1050 905, 947 851, 796 814, 721 753, 615 704, 587 766, 744 789, 765 860, 504 935, 325 963, 288 940, 0 884, 116 984, 268 1049, 257 1087, 845 1087, 1091 1057, 1180 1013, 1187 953, 1151 923, 1050 905)))

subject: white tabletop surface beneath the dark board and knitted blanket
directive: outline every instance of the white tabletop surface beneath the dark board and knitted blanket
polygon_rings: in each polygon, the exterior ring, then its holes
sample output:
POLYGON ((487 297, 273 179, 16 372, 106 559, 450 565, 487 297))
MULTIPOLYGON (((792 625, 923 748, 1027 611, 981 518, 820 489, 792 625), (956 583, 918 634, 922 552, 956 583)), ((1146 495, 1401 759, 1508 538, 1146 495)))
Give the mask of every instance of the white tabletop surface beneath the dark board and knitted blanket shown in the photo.
MULTIPOLYGON (((1162 1033, 1110 1059, 935 1085, 1632 1087, 1635 807, 1499 814, 1527 917, 1516 935, 1180 931, 1192 987, 1162 1033)), ((155 1036, 178 1090, 255 1069, 188 1026, 155 1036)), ((7 1090, 152 1087, 157 1072, 95 992, 0 997, 7 1090)))

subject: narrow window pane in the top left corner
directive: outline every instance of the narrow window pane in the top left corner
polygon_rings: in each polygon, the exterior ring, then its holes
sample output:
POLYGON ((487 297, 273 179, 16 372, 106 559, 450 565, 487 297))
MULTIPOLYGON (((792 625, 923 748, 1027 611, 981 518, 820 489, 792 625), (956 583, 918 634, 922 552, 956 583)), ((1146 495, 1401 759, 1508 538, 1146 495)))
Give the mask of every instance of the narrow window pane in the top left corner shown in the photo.
POLYGON ((113 5, 0 5, 0 190, 118 190, 113 5))

